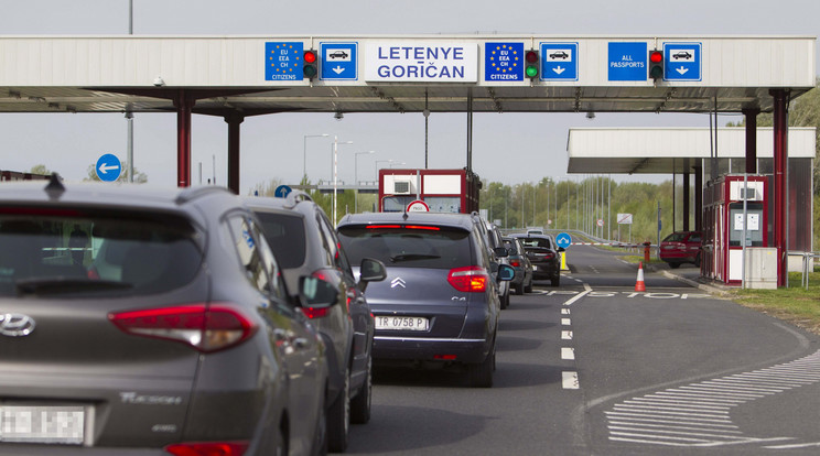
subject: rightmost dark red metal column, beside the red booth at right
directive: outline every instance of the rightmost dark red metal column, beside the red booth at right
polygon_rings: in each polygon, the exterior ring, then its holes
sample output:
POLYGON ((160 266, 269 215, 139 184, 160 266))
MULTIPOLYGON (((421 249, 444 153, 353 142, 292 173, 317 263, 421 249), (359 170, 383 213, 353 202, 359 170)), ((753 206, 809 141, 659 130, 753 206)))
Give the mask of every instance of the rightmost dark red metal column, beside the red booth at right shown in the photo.
POLYGON ((775 127, 775 247, 777 248, 777 286, 786 285, 786 138, 788 126, 786 123, 786 91, 783 89, 769 90, 775 98, 774 127, 775 127))

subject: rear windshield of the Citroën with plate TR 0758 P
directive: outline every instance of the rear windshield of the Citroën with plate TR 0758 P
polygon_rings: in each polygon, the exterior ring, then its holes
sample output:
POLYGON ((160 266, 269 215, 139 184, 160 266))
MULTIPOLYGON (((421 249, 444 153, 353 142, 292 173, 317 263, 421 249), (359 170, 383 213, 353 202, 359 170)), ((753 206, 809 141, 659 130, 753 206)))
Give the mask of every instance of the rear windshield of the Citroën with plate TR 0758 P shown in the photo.
POLYGON ((452 269, 474 264, 470 231, 439 228, 343 227, 339 240, 347 258, 381 260, 388 268, 452 269))

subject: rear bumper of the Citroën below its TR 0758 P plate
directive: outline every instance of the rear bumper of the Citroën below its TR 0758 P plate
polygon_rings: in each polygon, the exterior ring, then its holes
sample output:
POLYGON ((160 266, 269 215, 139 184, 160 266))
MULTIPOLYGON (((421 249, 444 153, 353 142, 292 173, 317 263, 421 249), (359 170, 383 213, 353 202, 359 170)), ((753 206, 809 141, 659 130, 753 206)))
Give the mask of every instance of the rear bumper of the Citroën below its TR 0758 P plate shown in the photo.
POLYGON ((379 360, 482 362, 489 352, 490 340, 445 339, 377 335, 373 341, 374 362, 379 360), (438 359, 436 356, 455 356, 438 359))

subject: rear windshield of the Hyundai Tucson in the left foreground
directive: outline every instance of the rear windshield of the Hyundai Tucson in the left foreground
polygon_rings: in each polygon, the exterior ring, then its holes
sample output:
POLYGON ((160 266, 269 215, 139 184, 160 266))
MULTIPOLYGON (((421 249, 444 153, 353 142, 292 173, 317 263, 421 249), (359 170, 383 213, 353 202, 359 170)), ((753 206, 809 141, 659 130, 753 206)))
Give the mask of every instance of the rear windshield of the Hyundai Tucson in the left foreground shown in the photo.
POLYGON ((160 293, 191 282, 202 260, 173 217, 0 211, 0 296, 160 293))

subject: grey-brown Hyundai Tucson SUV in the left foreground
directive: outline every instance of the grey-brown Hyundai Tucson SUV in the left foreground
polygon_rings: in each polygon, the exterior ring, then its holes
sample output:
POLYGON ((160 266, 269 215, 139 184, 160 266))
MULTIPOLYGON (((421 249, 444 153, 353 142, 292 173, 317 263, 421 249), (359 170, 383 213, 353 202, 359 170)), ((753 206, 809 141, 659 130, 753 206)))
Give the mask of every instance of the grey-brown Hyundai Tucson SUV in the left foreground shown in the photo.
POLYGON ((285 286, 226 189, 0 184, 0 454, 325 453, 285 286))

